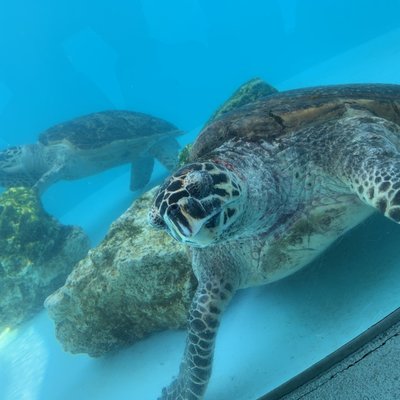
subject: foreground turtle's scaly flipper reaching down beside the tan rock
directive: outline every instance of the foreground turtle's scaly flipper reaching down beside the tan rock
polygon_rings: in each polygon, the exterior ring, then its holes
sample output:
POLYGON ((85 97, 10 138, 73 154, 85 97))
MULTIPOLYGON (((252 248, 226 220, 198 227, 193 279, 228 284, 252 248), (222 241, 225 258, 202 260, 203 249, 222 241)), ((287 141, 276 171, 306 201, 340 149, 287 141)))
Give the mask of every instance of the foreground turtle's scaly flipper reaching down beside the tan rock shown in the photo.
POLYGON ((164 388, 159 400, 203 399, 211 375, 215 337, 221 315, 237 288, 227 260, 213 248, 195 249, 193 267, 201 271, 188 317, 188 335, 178 377, 164 388), (229 271, 228 271, 229 270, 229 271), (207 272, 208 271, 208 272, 207 272), (229 272, 229 274, 228 274, 229 272))

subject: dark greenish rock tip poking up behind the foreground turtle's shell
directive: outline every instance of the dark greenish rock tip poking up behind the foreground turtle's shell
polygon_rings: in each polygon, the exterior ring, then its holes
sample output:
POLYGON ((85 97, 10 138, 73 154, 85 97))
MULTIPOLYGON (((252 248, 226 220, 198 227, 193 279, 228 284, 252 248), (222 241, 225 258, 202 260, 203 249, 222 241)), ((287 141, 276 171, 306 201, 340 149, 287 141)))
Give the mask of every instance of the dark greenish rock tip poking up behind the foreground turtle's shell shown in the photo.
POLYGON ((248 82, 241 85, 232 96, 226 100, 211 116, 211 118, 206 123, 206 126, 209 125, 214 120, 220 118, 223 114, 226 114, 235 108, 244 106, 253 101, 261 99, 265 96, 269 96, 271 94, 276 93, 277 90, 264 82, 260 78, 253 78, 248 82))

